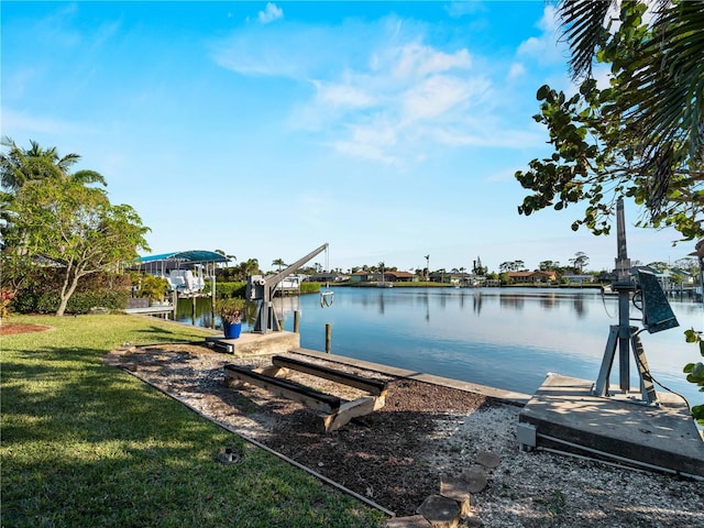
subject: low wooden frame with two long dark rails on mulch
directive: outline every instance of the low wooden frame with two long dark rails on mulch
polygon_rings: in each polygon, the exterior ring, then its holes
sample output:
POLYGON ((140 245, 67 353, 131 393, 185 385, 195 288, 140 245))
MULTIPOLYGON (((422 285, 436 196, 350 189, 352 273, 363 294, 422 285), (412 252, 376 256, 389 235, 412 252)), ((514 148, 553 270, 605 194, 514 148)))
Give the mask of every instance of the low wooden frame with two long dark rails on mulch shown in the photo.
POLYGON ((293 358, 274 356, 272 366, 260 370, 251 370, 239 365, 224 365, 224 370, 227 383, 230 386, 237 383, 256 385, 276 396, 299 402, 306 407, 317 410, 320 414, 326 432, 341 428, 354 417, 369 415, 376 409, 381 409, 385 404, 385 382, 364 378, 293 358), (360 388, 372 395, 345 402, 338 396, 324 394, 300 383, 277 377, 277 375, 286 373, 288 369, 360 388))

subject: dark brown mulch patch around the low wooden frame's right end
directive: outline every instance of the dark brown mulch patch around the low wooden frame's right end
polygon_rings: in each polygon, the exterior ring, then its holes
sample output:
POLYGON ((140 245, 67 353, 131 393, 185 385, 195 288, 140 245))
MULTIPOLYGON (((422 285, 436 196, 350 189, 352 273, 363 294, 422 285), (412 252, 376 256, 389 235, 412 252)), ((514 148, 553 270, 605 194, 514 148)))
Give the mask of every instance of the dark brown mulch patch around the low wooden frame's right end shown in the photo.
MULTIPOLYGON (((266 443, 397 515, 411 515, 437 494, 440 475, 429 468, 438 415, 491 406, 485 396, 416 381, 389 384, 386 405, 321 435, 310 411, 299 409, 274 428, 266 443)), ((458 468, 458 473, 463 468, 458 468)))

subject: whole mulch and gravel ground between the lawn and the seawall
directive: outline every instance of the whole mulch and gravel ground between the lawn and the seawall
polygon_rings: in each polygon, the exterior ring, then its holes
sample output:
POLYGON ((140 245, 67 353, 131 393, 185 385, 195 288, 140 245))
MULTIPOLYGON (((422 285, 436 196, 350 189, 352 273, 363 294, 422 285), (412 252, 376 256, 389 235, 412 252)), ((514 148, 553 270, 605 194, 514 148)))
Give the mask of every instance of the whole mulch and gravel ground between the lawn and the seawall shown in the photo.
MULTIPOLYGON (((479 453, 491 451, 501 464, 487 470, 488 486, 473 496, 475 517, 463 526, 704 526, 701 482, 520 451, 520 409, 475 393, 321 361, 389 386, 382 409, 324 433, 300 404, 250 385, 226 386, 224 364, 264 366, 270 358, 237 360, 199 345, 160 345, 116 351, 107 361, 399 517, 437 494, 441 476, 459 476, 479 453)), ((346 399, 359 396, 320 378, 290 377, 346 399)))

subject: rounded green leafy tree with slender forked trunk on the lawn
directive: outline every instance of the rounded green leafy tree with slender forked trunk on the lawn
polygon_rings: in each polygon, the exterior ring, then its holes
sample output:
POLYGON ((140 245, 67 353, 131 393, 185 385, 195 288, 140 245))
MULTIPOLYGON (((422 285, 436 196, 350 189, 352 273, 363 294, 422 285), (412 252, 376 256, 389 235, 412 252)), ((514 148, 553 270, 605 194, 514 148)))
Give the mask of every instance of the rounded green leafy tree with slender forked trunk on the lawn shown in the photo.
POLYGON ((3 253, 44 257, 63 266, 61 302, 63 316, 68 299, 86 275, 114 270, 148 249, 134 209, 113 206, 102 189, 85 186, 80 179, 51 175, 25 182, 11 205, 14 227, 3 253))

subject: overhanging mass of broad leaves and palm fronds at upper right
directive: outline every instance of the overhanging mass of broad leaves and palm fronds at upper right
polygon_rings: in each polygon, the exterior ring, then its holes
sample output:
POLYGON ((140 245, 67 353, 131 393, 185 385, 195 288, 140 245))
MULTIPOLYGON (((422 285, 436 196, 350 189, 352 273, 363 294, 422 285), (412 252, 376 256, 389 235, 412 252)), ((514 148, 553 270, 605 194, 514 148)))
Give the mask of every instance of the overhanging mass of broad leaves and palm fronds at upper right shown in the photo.
POLYGON ((538 90, 535 119, 547 125, 554 152, 516 173, 534 191, 518 211, 561 210, 585 200, 584 218, 572 229, 604 234, 615 200, 626 196, 647 211, 640 226, 672 226, 683 240, 704 235, 704 151, 696 131, 704 107, 704 41, 697 38, 704 3, 675 2, 648 26, 644 3, 623 2, 613 32, 603 26, 604 3, 560 4, 573 69, 587 77, 572 97, 549 86, 538 90), (588 75, 594 56, 612 66, 606 89, 588 75), (684 102, 682 91, 689 94, 684 102))

